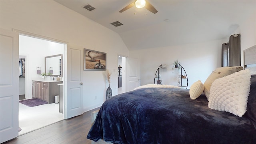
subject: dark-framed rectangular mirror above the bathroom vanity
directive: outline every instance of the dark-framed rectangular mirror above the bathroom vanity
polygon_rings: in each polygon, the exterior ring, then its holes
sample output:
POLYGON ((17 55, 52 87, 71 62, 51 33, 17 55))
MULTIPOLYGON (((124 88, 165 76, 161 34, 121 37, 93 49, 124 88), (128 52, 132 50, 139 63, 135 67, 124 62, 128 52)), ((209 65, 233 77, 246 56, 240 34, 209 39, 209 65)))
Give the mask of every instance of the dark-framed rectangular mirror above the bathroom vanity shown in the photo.
POLYGON ((44 58, 45 73, 51 73, 52 76, 62 77, 62 54, 46 56, 44 58))

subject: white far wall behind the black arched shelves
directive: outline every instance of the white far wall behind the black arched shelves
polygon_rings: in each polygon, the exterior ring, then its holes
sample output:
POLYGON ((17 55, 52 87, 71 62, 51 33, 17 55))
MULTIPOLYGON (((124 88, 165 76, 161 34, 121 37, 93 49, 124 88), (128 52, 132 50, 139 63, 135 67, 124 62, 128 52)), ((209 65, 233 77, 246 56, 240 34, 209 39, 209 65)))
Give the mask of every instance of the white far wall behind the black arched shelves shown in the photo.
POLYGON ((130 51, 130 56, 140 55, 141 85, 154 84, 154 75, 160 64, 162 84, 177 85, 177 69, 172 70, 174 60, 179 60, 188 75, 188 88, 201 80, 203 83, 214 69, 221 66, 221 44, 224 40, 186 44, 162 48, 130 51))

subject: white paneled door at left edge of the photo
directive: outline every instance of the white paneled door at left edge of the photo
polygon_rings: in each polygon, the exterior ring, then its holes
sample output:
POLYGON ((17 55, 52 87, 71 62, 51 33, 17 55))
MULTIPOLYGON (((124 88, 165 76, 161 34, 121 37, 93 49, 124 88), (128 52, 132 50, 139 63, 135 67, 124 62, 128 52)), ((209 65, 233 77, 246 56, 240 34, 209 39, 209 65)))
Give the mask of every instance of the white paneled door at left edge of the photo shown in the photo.
POLYGON ((18 136, 19 34, 0 32, 0 143, 18 136))

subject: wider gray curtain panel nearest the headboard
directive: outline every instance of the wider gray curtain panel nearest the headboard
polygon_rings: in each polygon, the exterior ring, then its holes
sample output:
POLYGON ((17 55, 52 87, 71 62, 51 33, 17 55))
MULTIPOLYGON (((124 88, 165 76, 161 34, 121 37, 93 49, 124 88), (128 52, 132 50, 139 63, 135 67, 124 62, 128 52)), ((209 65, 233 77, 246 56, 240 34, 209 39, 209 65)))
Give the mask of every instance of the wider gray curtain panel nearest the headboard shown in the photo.
POLYGON ((240 34, 229 37, 228 66, 241 66, 240 34))

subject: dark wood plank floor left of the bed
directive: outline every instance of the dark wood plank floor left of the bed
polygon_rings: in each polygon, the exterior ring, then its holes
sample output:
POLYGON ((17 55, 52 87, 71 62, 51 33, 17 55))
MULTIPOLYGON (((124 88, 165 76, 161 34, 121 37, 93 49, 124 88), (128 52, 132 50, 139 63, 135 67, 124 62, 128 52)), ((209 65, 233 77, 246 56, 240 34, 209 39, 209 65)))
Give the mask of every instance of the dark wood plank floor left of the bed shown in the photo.
POLYGON ((3 144, 91 144, 86 136, 92 123, 91 113, 98 109, 20 135, 3 144))

